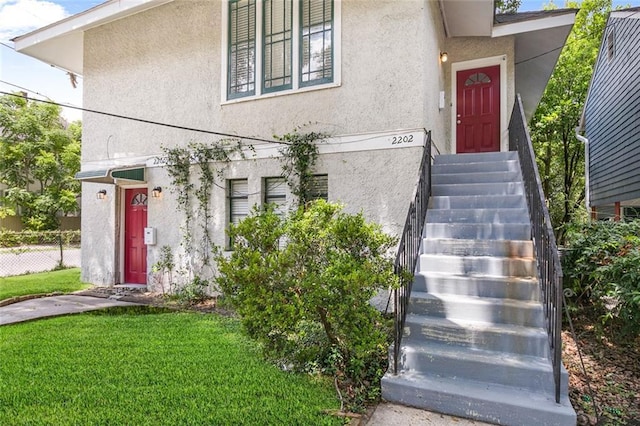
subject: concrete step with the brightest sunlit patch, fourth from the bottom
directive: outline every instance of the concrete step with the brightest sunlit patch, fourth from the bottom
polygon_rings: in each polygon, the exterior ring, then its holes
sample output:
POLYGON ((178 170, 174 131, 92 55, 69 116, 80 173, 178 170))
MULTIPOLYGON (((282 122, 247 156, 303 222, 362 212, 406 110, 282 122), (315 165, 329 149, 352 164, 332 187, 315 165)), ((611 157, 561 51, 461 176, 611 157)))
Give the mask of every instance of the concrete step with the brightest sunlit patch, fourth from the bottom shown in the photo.
POLYGON ((433 294, 412 290, 409 312, 448 320, 540 328, 545 326, 542 304, 523 300, 461 296, 450 293, 433 294))

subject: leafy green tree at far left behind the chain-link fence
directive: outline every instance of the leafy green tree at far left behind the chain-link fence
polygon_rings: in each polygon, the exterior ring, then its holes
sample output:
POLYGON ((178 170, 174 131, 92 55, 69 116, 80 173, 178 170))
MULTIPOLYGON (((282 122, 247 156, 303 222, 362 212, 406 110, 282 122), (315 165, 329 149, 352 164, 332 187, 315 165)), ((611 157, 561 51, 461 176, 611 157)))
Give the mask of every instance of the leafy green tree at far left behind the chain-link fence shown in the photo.
POLYGON ((59 215, 78 209, 80 122, 64 126, 60 107, 0 97, 0 183, 27 229, 57 229, 59 215))

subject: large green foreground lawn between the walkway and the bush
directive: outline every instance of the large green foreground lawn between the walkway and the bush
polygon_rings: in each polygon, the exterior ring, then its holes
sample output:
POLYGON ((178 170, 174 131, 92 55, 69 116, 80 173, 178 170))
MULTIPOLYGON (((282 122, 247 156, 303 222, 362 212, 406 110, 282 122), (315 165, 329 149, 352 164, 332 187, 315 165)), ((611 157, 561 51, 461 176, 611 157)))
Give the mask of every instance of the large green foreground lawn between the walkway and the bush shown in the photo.
POLYGON ((279 370, 237 320, 119 308, 0 327, 2 425, 324 425, 331 382, 279 370))

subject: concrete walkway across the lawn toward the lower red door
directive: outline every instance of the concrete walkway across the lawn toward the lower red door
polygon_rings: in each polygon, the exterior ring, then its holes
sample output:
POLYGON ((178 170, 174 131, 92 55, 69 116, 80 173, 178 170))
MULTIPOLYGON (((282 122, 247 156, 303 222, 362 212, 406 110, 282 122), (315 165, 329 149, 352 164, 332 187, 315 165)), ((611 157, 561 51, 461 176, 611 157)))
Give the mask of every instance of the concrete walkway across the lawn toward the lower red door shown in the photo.
POLYGON ((0 326, 37 318, 77 314, 113 306, 136 306, 140 303, 121 302, 91 296, 68 294, 64 296, 40 297, 0 307, 0 326))

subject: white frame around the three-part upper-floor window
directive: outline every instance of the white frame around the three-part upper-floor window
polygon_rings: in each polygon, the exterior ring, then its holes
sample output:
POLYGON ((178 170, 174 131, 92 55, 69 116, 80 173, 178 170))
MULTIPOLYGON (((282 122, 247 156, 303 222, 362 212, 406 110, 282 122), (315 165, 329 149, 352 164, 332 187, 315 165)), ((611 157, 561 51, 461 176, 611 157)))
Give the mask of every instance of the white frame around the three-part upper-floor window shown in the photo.
POLYGON ((293 1, 293 37, 292 37, 292 82, 291 89, 279 90, 274 92, 264 93, 262 90, 263 83, 263 0, 256 0, 256 82, 255 82, 255 94, 249 96, 242 96, 238 98, 228 98, 227 85, 229 83, 229 1, 224 0, 222 2, 222 43, 220 56, 222 58, 221 67, 221 90, 220 96, 222 105, 233 104, 238 102, 246 102, 255 99, 271 98, 275 96, 290 95, 292 93, 310 92, 313 90, 323 90, 334 87, 339 87, 342 84, 342 49, 341 49, 341 28, 342 28, 342 0, 333 0, 333 81, 330 83, 300 86, 300 2, 293 1))

